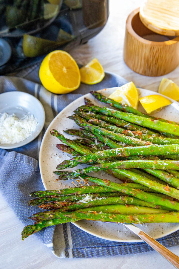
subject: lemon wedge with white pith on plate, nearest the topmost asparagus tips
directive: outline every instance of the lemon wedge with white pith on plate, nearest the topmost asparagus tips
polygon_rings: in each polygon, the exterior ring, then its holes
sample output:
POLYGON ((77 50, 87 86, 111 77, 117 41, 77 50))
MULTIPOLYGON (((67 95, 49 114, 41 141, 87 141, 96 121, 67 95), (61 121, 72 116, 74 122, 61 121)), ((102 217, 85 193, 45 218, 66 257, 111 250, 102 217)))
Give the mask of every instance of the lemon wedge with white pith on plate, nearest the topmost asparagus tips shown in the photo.
POLYGON ((132 81, 117 88, 117 90, 109 95, 109 98, 135 109, 138 107, 138 90, 132 81))

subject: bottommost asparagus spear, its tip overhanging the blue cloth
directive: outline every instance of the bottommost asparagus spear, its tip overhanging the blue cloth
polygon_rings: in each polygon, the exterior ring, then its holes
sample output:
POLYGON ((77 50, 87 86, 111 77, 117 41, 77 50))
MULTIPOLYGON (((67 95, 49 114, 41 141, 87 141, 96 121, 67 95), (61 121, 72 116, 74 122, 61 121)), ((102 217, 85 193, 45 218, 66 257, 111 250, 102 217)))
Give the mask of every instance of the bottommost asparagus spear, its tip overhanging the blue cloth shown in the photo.
POLYGON ((27 225, 24 227, 21 236, 22 239, 28 237, 29 235, 40 231, 44 227, 66 223, 75 222, 81 219, 88 219, 94 221, 115 221, 121 223, 151 223, 151 222, 178 222, 179 213, 158 213, 158 214, 139 214, 139 215, 122 215, 122 214, 108 214, 108 213, 98 213, 96 212, 61 212, 60 218, 55 218, 51 220, 40 221, 33 225, 27 225))

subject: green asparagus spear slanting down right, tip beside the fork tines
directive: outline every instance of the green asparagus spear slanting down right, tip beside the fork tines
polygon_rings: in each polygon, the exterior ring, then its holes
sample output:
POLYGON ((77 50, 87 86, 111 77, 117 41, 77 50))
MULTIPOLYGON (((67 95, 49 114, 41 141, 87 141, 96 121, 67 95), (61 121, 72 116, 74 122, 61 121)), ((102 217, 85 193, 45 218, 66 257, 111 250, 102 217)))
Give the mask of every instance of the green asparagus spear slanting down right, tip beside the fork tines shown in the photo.
POLYGON ((83 175, 81 176, 84 179, 87 179, 88 181, 91 181, 93 183, 96 183, 100 186, 105 186, 111 189, 115 189, 119 192, 125 193, 129 196, 133 196, 135 198, 141 199, 143 201, 155 204, 155 205, 161 205, 163 207, 168 207, 172 210, 179 210, 179 203, 175 201, 170 201, 166 198, 161 198, 157 195, 151 194, 149 192, 144 192, 142 190, 137 190, 130 188, 128 186, 123 187, 121 186, 122 184, 117 184, 115 182, 109 181, 107 179, 101 179, 101 178, 96 178, 96 177, 91 177, 91 176, 86 176, 83 175))

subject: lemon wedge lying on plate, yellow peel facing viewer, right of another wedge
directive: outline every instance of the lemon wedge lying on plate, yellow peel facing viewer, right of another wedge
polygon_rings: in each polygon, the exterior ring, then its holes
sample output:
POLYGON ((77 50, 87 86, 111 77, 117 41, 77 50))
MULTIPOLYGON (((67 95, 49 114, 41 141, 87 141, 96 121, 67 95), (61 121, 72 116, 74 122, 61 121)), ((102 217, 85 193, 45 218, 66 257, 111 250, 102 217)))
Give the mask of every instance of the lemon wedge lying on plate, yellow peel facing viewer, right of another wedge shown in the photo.
POLYGON ((139 101, 148 114, 172 103, 170 100, 157 94, 144 96, 139 101))

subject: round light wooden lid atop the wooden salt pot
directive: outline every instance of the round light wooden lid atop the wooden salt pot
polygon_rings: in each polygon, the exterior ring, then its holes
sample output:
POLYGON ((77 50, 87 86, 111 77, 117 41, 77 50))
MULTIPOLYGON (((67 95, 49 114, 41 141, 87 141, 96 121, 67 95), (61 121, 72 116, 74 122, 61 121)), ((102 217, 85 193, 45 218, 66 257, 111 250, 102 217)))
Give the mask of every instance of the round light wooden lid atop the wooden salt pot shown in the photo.
POLYGON ((155 33, 179 36, 179 1, 147 0, 139 13, 142 23, 155 33))

